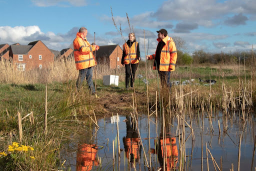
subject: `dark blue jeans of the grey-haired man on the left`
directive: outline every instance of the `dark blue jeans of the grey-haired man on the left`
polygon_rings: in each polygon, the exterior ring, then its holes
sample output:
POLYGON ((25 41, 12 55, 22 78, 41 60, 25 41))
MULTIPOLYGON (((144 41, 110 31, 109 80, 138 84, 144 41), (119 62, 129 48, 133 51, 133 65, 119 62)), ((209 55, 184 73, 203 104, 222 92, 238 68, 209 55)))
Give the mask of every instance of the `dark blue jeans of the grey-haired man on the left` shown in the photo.
POLYGON ((76 87, 80 88, 83 82, 84 77, 86 76, 88 88, 91 93, 95 93, 95 87, 93 85, 92 76, 93 76, 93 67, 88 67, 84 69, 79 69, 79 75, 76 81, 76 87))

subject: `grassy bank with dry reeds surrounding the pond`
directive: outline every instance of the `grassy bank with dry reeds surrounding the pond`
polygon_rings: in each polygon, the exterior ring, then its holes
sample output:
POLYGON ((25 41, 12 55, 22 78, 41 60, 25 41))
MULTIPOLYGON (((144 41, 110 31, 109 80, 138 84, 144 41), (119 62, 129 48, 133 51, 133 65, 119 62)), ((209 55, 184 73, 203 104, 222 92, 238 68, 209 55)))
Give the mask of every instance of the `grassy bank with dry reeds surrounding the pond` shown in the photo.
MULTIPOLYGON (((136 74, 141 74, 143 78, 136 78, 135 88, 128 90, 124 88, 123 67, 115 71, 105 69, 106 66, 104 69, 102 66, 97 66, 96 87, 99 98, 96 98, 88 95, 86 82, 79 92, 76 91, 75 81, 78 71, 75 69, 74 61, 66 63, 59 61, 45 70, 24 72, 16 71, 8 63, 0 61, 0 71, 3 75, 0 78, 0 152, 2 152, 0 170, 61 168, 63 161, 60 158, 60 151, 63 145, 67 141, 74 140, 70 134, 79 134, 80 128, 89 131, 90 125, 93 124, 89 115, 102 117, 111 115, 112 112, 133 111, 133 104, 136 108, 146 109, 144 65, 141 62, 136 71, 136 74), (103 85, 102 76, 115 72, 119 75, 118 87, 103 85), (47 129, 45 129, 45 92, 47 92, 47 129), (18 112, 21 118, 30 113, 21 121, 22 138, 19 134, 18 112), (32 147, 33 150, 14 149, 13 142, 18 142, 18 146, 32 147)), ((171 80, 180 82, 189 80, 191 83, 173 85, 170 97, 159 85, 158 73, 152 70, 150 62, 147 68, 149 107, 154 105, 156 91, 158 100, 161 99, 163 102, 162 106, 167 108, 172 106, 175 109, 180 107, 181 98, 184 106, 191 103, 193 109, 201 109, 202 105, 207 106, 210 103, 214 108, 220 109, 226 107, 240 110, 242 106, 251 109, 252 103, 256 102, 255 73, 251 71, 250 66, 245 69, 238 65, 179 66, 171 73, 171 80), (216 83, 210 85, 199 82, 198 78, 214 79, 216 83), (241 105, 242 100, 246 102, 241 105)))

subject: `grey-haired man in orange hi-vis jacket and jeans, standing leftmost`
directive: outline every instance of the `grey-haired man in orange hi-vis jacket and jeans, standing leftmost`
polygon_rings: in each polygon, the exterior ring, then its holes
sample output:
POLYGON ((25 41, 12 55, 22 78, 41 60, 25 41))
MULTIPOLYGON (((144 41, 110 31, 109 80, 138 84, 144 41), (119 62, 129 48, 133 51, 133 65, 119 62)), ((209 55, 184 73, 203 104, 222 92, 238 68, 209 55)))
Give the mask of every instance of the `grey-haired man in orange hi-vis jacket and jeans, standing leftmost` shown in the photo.
POLYGON ((74 60, 76 69, 79 70, 79 75, 76 81, 76 87, 79 88, 83 82, 84 77, 88 83, 88 87, 92 94, 95 94, 95 87, 92 81, 93 66, 96 65, 95 57, 92 51, 98 50, 99 46, 96 44, 90 45, 86 38, 87 29, 81 27, 73 41, 74 46, 74 60))

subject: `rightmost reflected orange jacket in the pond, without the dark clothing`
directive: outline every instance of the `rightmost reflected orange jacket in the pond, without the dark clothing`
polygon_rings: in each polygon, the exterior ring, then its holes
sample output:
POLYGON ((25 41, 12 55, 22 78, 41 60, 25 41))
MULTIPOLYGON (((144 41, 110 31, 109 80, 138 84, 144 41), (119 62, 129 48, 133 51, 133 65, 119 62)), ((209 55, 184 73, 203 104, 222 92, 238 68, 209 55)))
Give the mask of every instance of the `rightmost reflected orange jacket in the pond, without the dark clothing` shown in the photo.
POLYGON ((166 160, 167 170, 172 170, 172 168, 176 165, 177 158, 178 158, 176 138, 167 137, 165 138, 165 142, 163 142, 163 139, 161 139, 160 143, 161 143, 162 157, 164 157, 163 152, 165 152, 165 157, 167 158, 166 160))

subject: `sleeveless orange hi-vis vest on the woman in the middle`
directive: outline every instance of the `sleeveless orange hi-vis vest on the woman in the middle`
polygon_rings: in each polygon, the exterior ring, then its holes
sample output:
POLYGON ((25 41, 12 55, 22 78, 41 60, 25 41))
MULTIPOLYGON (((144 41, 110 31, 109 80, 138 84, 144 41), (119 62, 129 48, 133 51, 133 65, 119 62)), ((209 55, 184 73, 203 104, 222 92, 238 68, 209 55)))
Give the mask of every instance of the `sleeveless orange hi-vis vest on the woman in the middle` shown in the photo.
POLYGON ((136 41, 132 43, 131 47, 129 47, 126 42, 122 45, 122 48, 125 52, 123 64, 129 64, 129 62, 132 64, 138 63, 138 58, 136 53, 137 45, 138 43, 136 41))

